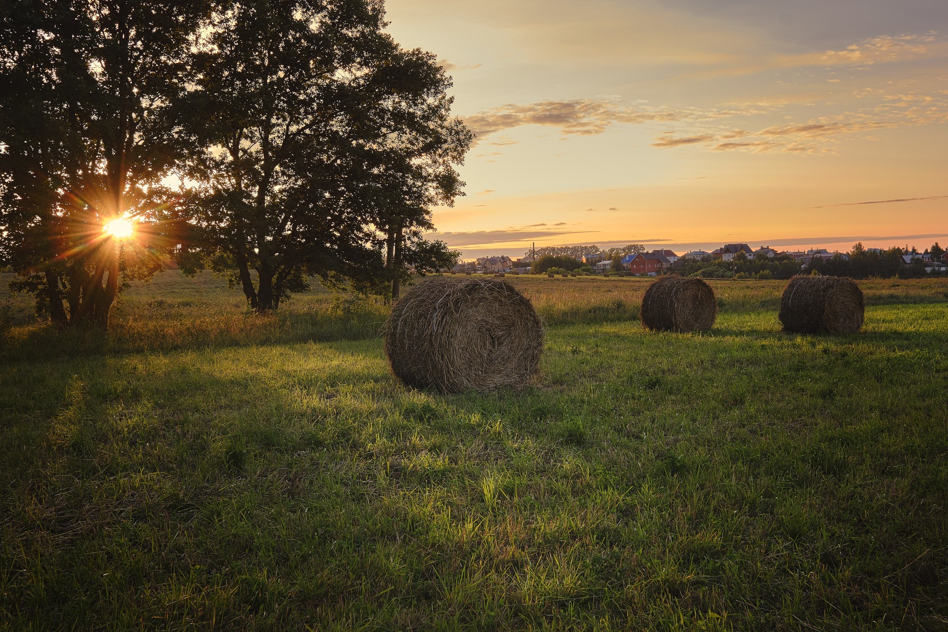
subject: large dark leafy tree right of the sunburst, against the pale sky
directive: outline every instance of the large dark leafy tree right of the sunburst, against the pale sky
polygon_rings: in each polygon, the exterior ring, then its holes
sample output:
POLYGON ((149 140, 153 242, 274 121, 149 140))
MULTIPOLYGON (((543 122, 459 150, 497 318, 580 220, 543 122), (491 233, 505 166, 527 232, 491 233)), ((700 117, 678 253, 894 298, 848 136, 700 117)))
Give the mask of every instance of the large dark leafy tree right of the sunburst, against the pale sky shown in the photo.
POLYGON ((310 276, 371 287, 395 275, 430 204, 459 193, 452 163, 470 135, 449 117, 447 77, 384 27, 374 0, 245 0, 197 46, 190 127, 205 149, 191 177, 203 184, 181 260, 193 269, 199 250, 258 311, 310 276))

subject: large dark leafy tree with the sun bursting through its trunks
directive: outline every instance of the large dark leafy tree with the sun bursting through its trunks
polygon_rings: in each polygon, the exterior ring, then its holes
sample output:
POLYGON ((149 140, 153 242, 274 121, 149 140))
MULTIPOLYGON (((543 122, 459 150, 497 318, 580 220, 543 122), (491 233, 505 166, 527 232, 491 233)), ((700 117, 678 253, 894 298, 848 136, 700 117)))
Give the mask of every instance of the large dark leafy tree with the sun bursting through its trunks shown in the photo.
POLYGON ((203 0, 25 0, 0 7, 0 237, 38 311, 108 323, 118 290, 160 268, 162 177, 203 0), (109 222, 142 220, 119 243, 109 222))

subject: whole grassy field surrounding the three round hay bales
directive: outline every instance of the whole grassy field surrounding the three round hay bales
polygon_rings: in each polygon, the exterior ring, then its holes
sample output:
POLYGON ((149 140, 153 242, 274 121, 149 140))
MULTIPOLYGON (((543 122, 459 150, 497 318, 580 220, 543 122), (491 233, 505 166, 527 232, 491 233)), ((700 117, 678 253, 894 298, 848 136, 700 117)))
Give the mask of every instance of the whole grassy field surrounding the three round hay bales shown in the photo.
POLYGON ((648 280, 509 280, 538 381, 452 396, 372 301, 0 296, 0 628, 948 629, 948 280, 861 281, 838 336, 779 331, 784 281, 654 334, 648 280))

